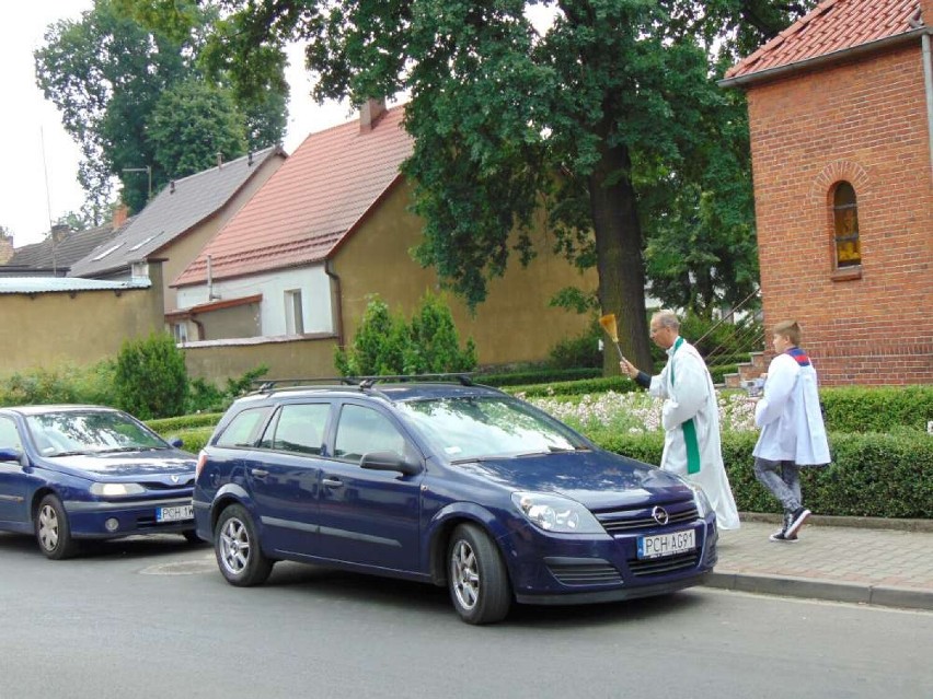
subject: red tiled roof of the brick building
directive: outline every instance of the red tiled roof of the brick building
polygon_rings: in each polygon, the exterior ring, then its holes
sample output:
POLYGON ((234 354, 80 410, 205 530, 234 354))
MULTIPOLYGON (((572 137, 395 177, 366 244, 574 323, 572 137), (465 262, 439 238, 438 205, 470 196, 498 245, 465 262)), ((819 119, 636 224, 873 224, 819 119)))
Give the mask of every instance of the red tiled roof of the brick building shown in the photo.
MULTIPOLYGON (((920 0, 823 0, 733 66, 726 80, 790 66, 911 31, 920 0)), ((930 21, 926 21, 930 24, 930 21)))

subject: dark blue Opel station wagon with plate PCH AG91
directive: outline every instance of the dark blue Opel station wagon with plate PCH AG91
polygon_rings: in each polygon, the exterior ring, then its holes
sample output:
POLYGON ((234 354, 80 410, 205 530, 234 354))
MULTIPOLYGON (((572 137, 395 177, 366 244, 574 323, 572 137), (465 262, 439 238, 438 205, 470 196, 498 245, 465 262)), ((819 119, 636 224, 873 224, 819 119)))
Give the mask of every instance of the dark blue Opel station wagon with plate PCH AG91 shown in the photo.
POLYGON ((446 585, 487 624, 514 602, 664 594, 713 570, 702 491, 468 376, 400 378, 270 384, 230 407, 194 490, 230 583, 304 561, 446 585))

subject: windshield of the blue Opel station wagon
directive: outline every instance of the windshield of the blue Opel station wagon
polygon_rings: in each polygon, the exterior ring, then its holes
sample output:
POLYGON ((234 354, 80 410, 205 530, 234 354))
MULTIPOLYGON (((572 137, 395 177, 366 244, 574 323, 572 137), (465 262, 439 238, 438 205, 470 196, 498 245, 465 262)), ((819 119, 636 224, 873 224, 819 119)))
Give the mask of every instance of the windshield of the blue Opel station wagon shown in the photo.
POLYGON ((516 399, 441 398, 399 408, 453 463, 589 448, 568 427, 516 399))

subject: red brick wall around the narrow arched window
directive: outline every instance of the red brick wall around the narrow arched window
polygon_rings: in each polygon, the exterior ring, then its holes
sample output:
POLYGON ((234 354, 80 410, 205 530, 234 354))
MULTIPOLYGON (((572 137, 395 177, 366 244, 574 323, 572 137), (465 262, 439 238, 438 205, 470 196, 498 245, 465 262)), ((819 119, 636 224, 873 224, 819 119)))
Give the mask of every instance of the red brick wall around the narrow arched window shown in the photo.
POLYGON ((767 326, 798 319, 825 385, 933 381, 933 179, 920 40, 748 93, 767 326), (861 276, 830 195, 856 191, 861 276))

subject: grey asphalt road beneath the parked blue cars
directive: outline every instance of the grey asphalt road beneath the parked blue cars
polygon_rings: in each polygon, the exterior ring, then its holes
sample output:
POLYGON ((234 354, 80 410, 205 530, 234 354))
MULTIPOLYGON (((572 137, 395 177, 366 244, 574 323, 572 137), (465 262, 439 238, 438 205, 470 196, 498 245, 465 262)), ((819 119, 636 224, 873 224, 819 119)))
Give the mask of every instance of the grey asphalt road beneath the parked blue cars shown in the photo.
POLYGON ((0 699, 900 697, 933 687, 933 614, 712 589, 460 621, 446 591, 279 563, 235 589, 209 547, 47 561, 0 534, 0 699))

